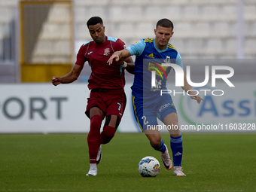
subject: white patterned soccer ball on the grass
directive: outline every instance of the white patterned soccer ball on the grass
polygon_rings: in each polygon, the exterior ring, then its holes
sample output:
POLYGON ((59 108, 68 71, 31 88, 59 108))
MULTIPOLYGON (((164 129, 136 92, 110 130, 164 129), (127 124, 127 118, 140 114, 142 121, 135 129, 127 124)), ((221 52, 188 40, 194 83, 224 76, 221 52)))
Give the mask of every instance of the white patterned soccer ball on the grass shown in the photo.
POLYGON ((139 161, 138 169, 142 177, 155 177, 160 172, 160 163, 154 157, 143 157, 139 161))

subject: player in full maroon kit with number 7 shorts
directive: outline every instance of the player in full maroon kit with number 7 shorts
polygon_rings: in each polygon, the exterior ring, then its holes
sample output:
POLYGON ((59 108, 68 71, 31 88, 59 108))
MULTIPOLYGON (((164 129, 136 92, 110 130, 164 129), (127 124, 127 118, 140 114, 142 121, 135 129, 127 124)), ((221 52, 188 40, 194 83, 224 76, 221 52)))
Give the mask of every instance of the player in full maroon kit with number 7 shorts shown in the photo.
POLYGON ((52 83, 55 86, 72 83, 78 79, 84 62, 89 62, 92 73, 88 80, 88 88, 91 92, 85 111, 90 118, 90 132, 87 136, 90 170, 87 175, 97 175, 96 164, 102 157, 101 144, 110 142, 114 137, 126 107, 126 95, 123 90, 124 69, 133 73, 134 64, 129 56, 124 61, 109 66, 107 63, 109 57, 115 51, 123 50, 125 44, 118 38, 105 35, 105 26, 100 17, 91 17, 87 21, 87 27, 93 40, 81 46, 72 71, 63 77, 53 77, 52 83), (106 117, 105 125, 100 133, 104 117, 106 117))

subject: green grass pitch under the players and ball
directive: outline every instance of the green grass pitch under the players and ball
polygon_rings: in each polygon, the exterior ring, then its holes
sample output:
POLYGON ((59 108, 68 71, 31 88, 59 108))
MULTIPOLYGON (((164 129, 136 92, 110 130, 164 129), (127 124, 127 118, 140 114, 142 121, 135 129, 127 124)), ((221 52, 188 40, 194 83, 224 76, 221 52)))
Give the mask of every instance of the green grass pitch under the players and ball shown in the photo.
MULTIPOLYGON (((169 135, 163 134, 169 148, 169 135)), ((0 191, 255 191, 255 134, 183 134, 182 168, 173 176, 142 133, 117 133, 102 146, 98 175, 89 169, 87 134, 0 135, 0 191), (143 178, 145 156, 160 174, 143 178)))

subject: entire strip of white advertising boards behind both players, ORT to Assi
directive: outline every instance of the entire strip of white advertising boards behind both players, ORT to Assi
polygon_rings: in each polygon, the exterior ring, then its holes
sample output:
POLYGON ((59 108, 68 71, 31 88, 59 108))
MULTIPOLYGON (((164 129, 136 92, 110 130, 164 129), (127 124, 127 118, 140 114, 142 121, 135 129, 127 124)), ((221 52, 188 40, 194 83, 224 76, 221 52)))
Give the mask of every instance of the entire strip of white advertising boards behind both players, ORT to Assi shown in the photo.
MULTIPOLYGON (((125 88, 126 111, 118 128, 121 133, 141 132, 133 116, 131 85, 125 88)), ((255 84, 235 86, 216 87, 224 90, 222 96, 214 96, 212 88, 206 96, 200 90, 208 88, 198 89, 204 99, 200 105, 181 93, 181 88, 175 95, 172 89, 181 133, 256 133, 255 84)), ((90 120, 84 111, 89 93, 87 84, 0 84, 0 133, 88 133, 90 120)))

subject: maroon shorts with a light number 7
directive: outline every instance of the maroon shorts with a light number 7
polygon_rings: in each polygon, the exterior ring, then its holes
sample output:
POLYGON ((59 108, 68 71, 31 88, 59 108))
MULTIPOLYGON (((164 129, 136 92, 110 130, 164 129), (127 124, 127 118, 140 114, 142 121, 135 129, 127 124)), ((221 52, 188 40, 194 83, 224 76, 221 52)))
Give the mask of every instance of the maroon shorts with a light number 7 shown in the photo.
POLYGON ((126 107, 126 95, 123 89, 93 89, 90 91, 90 98, 87 99, 87 110, 85 114, 90 118, 90 108, 100 108, 105 116, 115 114, 120 119, 126 107))

